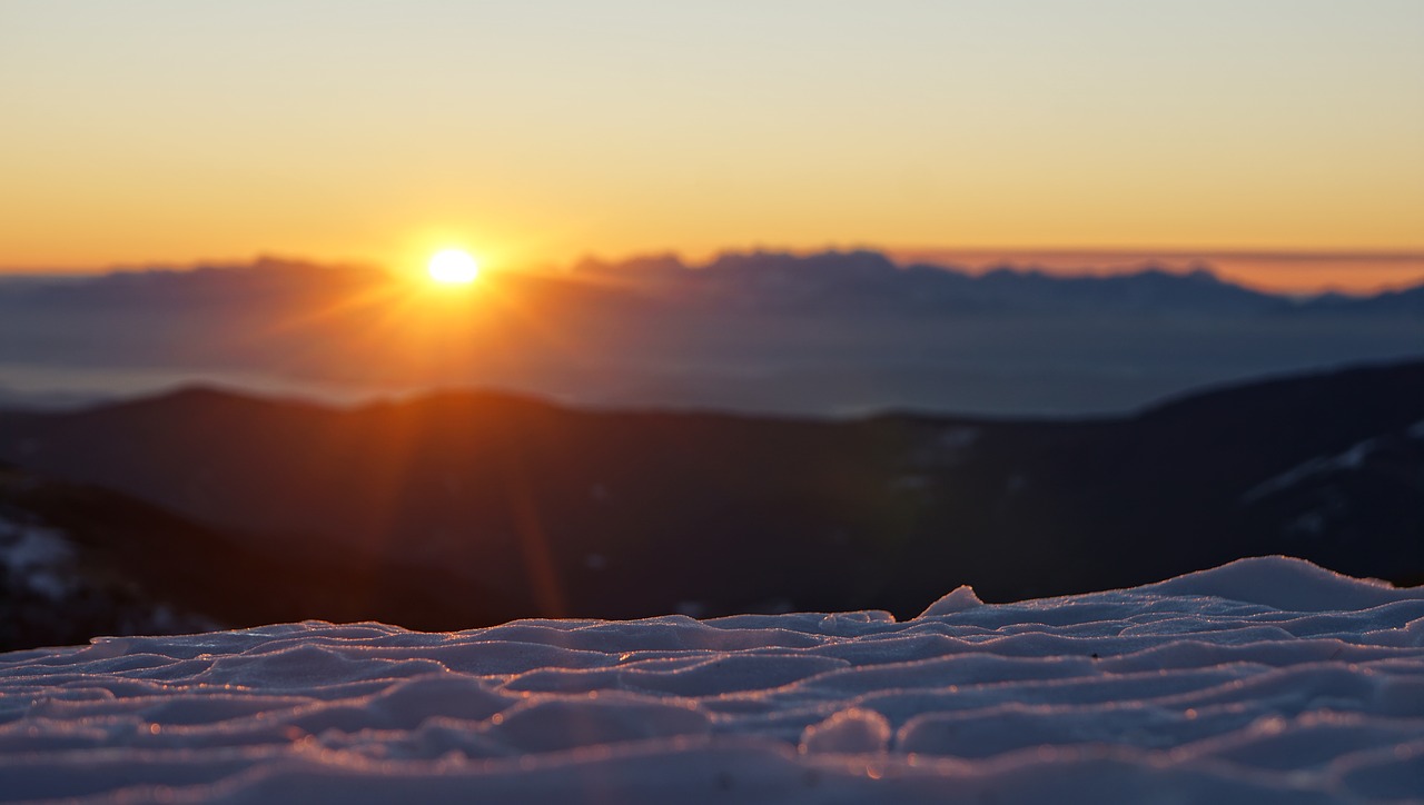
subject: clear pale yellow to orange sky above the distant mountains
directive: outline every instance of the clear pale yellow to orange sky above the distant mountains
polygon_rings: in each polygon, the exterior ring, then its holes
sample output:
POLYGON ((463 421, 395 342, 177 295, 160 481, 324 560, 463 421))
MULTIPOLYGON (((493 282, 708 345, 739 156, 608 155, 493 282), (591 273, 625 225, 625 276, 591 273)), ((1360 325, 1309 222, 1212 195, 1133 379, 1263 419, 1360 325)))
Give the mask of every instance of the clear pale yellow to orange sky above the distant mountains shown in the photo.
POLYGON ((0 0, 0 266, 1424 252, 1420 0, 0 0))

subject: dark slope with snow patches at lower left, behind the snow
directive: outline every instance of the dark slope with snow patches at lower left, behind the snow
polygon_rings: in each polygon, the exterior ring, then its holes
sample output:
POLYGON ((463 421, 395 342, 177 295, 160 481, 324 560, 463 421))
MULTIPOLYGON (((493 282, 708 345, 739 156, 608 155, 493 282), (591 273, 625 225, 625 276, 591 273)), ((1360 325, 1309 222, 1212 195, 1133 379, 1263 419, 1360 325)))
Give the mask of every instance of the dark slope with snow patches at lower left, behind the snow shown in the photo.
POLYGON ((460 629, 517 614, 437 567, 261 550, 125 495, 0 465, 0 651, 305 619, 460 629))

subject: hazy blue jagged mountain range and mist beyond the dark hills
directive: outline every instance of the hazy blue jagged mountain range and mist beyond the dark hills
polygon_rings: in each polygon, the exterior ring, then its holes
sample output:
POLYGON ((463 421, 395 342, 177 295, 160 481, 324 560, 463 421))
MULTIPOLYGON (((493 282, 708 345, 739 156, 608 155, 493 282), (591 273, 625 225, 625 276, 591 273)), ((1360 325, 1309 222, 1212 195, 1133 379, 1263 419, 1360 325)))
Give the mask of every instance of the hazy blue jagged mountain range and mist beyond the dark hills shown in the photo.
POLYGON ((1297 299, 1208 270, 971 276, 876 252, 587 260, 468 293, 278 260, 0 282, 0 400, 58 404, 177 375, 342 400, 467 387, 608 408, 1084 415, 1421 356, 1424 284, 1297 299))

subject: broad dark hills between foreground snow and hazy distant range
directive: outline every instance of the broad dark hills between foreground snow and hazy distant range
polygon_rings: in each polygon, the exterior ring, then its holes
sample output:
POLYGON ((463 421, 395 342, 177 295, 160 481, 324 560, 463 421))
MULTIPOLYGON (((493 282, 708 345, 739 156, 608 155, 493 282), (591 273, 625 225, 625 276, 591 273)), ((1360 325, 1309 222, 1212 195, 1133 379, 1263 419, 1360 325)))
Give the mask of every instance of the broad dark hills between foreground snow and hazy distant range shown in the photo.
POLYGON ((518 614, 913 613, 958 583, 1005 600, 1260 553, 1418 580, 1421 422, 1424 363, 1092 421, 591 412, 487 394, 330 410, 192 390, 3 415, 0 459, 242 533, 262 560, 429 575, 426 589, 487 590, 518 614))

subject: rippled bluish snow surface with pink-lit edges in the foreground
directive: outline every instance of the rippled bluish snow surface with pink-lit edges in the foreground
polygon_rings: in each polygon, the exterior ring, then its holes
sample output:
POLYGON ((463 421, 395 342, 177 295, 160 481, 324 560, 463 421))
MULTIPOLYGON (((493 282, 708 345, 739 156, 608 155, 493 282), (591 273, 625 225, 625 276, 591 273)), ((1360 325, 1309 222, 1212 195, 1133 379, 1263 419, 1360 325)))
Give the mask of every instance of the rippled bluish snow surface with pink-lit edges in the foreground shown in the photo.
POLYGON ((1424 590, 1131 590, 0 654, 0 799, 1424 802, 1424 590))

